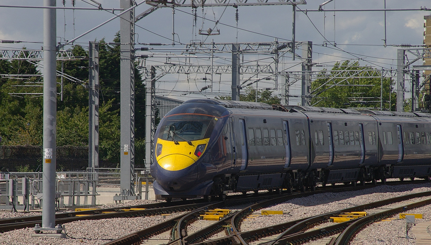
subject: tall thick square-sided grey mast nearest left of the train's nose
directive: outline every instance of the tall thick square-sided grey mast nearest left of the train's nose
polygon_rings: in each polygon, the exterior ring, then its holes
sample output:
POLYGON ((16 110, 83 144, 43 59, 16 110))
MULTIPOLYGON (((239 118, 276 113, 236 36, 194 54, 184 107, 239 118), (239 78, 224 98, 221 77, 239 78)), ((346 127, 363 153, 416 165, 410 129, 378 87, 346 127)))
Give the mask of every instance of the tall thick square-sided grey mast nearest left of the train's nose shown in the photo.
MULTIPOLYGON (((134 1, 121 0, 130 9, 134 1)), ((121 195, 134 195, 134 9, 120 19, 120 188, 121 195)), ((126 198, 127 199, 127 198, 126 198)))

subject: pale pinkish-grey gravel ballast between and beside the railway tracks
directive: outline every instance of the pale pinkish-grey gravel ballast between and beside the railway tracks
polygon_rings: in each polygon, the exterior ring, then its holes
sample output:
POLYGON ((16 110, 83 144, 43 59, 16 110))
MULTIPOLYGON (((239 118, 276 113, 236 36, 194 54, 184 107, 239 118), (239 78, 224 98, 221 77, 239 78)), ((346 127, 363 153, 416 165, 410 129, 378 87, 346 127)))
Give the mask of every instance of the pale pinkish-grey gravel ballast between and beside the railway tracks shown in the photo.
MULTIPOLYGON (((343 192, 343 193, 327 193, 327 194, 316 194, 306 198, 295 198, 289 200, 283 204, 277 204, 272 207, 267 207, 268 210, 283 210, 287 214, 283 215, 270 215, 270 216, 259 216, 254 219, 247 219, 241 225, 241 230, 252 230, 257 229, 262 226, 270 226, 276 223, 283 223, 290 220, 297 220, 301 217, 310 217, 316 214, 323 214, 330 211, 340 210, 346 207, 352 207, 359 204, 364 204, 372 201, 377 201, 381 199, 396 197, 400 195, 406 195, 415 192, 428 191, 431 187, 431 183, 425 184, 409 184, 398 186, 387 186, 378 185, 375 188, 355 191, 355 192, 343 192)), ((153 203, 156 201, 148 200, 136 200, 129 201, 125 204, 115 204, 110 206, 102 207, 121 207, 125 205, 138 205, 144 203, 153 203)), ((236 207, 228 207, 231 210, 240 210, 247 205, 240 205, 236 207)), ((417 211, 419 212, 419 211, 417 211)), ((422 213, 428 214, 431 212, 431 208, 428 211, 422 211, 422 213)), ((34 212, 33 212, 34 213, 34 212)), ((2 214, 2 213, 0 213, 2 214)), ((41 213, 37 213, 39 215, 41 213)), ((256 210, 254 214, 260 214, 260 210, 256 210)), ((3 212, 2 218, 6 217, 17 217, 19 215, 34 215, 30 213, 10 213, 3 212)), ((179 213, 173 214, 179 215, 179 213)), ((169 216, 173 217, 173 216, 169 216)), ((127 235, 131 232, 135 232, 140 229, 152 226, 156 223, 163 221, 163 216, 153 216, 153 217, 137 217, 137 218, 115 218, 109 220, 82 220, 74 221, 71 223, 66 223, 66 234, 76 238, 72 239, 67 237, 65 239, 56 239, 50 237, 41 238, 31 238, 31 234, 34 233, 32 228, 18 229, 10 232, 4 232, 0 234, 0 245, 22 245, 22 244, 34 244, 34 245, 75 245, 75 244, 87 244, 87 245, 99 245, 108 242, 109 240, 102 239, 116 239, 121 236, 127 235)), ((396 222, 390 222, 395 224, 396 222)), ((379 223, 380 225, 385 225, 385 223, 379 223)), ((204 225, 204 224, 201 224, 204 225)), ((405 227, 405 221, 400 221, 400 227, 405 227)), ((188 228, 189 233, 191 233, 193 228, 188 228)), ((401 228, 400 228, 401 229, 401 228)), ((403 230, 403 229, 401 229, 403 230)), ((378 232, 378 230, 373 229, 372 232, 378 232)), ((365 232, 365 230, 364 230, 365 232)), ((381 233, 384 233, 381 232, 381 233)), ((384 234, 385 235, 385 234, 384 234)), ((400 233, 398 236, 402 236, 400 233)), ((405 233, 404 233, 405 235, 405 233)), ((216 237, 224 236, 224 232, 216 234, 212 239, 216 237)), ((369 236, 369 235, 367 235, 369 236)), ((377 237, 377 236, 376 236, 377 237)), ((163 236, 166 238, 166 235, 163 236)), ((162 239, 162 237, 160 237, 162 239)), ((384 240, 384 238, 382 238, 384 240)), ((404 239, 406 240, 406 239, 404 239)), ((377 241, 377 240, 376 240, 377 241)), ((411 241, 411 240, 410 240, 411 241)), ((357 243, 365 245, 365 243, 357 243)), ((385 244, 370 242, 367 244, 385 244)), ((412 243, 398 243, 398 242, 388 242, 386 244, 412 244, 412 243)))

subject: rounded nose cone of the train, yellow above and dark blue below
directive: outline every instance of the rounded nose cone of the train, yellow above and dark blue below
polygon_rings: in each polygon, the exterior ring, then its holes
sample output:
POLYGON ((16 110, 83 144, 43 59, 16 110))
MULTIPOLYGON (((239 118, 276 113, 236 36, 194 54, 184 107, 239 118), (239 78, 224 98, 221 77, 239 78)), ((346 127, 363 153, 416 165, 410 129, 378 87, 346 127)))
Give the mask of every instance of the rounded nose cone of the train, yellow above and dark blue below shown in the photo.
POLYGON ((169 191, 184 191, 196 184, 197 164, 183 154, 170 154, 157 161, 157 182, 169 191))

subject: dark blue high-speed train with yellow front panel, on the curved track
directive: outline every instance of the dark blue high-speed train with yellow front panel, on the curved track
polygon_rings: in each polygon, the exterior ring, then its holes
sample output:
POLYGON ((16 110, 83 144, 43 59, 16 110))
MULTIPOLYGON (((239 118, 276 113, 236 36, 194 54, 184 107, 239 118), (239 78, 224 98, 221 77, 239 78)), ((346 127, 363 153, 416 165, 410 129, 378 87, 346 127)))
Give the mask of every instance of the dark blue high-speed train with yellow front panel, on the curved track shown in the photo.
POLYGON ((195 99, 154 138, 154 192, 168 201, 431 176, 429 113, 195 99))

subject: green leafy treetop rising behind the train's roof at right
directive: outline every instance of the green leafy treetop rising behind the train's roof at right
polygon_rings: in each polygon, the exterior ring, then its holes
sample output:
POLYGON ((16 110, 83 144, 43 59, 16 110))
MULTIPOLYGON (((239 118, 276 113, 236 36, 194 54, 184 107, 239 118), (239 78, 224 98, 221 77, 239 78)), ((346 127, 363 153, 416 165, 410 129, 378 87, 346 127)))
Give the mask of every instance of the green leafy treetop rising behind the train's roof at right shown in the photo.
MULTIPOLYGON (((371 69, 367 66, 359 66, 359 63, 353 63, 350 66, 350 61, 336 63, 331 71, 323 70, 318 79, 311 83, 311 91, 314 97, 310 100, 312 106, 319 107, 380 107, 381 94, 381 78, 366 78, 365 72, 362 69, 371 69), (356 76, 364 76, 359 79, 343 79, 336 78, 338 76, 348 76, 344 69, 358 70, 356 76), (359 86, 361 85, 361 86, 359 86)), ((372 72, 373 75, 381 76, 380 70, 372 72)), ((350 73, 351 74, 351 73, 350 73)), ((394 81, 390 78, 383 79, 383 108, 394 109, 396 105, 396 94, 390 93, 394 81), (390 104, 389 104, 390 101, 390 104)))

